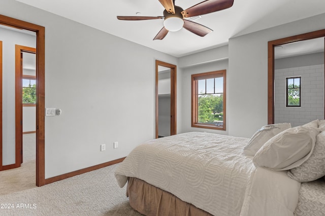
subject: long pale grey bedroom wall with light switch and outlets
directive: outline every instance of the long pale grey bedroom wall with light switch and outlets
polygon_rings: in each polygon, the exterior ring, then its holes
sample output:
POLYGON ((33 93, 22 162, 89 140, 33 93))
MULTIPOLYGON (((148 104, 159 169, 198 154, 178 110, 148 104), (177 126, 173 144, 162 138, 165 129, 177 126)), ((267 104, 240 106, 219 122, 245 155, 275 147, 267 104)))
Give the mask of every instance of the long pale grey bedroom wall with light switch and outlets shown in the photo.
POLYGON ((45 178, 154 138, 155 60, 177 58, 16 1, 3 0, 0 14, 45 27, 45 106, 62 109, 45 118, 45 178))

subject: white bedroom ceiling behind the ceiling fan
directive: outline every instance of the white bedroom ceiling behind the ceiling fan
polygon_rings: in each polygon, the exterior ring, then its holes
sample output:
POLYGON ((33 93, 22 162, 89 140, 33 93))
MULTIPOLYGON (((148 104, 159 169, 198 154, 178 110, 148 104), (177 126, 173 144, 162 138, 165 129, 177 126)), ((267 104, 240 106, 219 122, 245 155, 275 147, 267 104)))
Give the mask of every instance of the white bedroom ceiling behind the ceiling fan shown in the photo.
MULTIPOLYGON (((123 21, 116 16, 163 16, 158 0, 16 0, 137 44, 181 57, 228 44, 228 39, 325 13, 324 0, 235 0, 233 7, 196 20, 214 31, 205 37, 186 29, 152 40, 163 20, 123 21)), ((184 10, 203 0, 176 0, 184 10)))

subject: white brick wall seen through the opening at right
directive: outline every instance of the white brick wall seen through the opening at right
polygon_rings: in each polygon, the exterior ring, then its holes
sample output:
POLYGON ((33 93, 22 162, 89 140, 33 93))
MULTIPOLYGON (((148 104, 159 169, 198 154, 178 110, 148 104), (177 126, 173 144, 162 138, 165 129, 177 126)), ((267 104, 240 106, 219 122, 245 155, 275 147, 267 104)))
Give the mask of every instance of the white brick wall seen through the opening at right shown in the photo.
POLYGON ((274 123, 299 126, 324 119, 324 64, 274 71, 274 123), (301 76, 301 107, 285 107, 285 78, 301 76))

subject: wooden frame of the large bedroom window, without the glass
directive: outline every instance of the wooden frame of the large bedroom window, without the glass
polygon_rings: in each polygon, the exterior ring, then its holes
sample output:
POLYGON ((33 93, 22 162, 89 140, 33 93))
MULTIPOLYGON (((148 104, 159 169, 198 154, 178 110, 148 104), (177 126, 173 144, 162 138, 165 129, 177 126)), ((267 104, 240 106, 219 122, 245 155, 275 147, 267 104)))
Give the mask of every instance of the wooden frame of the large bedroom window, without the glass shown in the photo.
POLYGON ((217 129, 217 130, 226 130, 226 70, 211 71, 199 74, 191 75, 191 126, 192 127, 201 127, 207 129, 217 129), (200 79, 209 79, 223 77, 223 125, 216 126, 209 123, 199 123, 198 122, 198 80, 200 79))

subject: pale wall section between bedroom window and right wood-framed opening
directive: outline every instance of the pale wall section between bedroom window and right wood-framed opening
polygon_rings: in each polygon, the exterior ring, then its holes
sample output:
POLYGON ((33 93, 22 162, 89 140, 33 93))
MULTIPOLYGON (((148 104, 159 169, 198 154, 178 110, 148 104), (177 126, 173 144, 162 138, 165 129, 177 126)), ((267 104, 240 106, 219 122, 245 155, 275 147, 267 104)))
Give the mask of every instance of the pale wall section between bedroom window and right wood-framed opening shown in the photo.
POLYGON ((325 14, 229 40, 229 134, 251 137, 267 121, 268 41, 324 28, 325 14))

